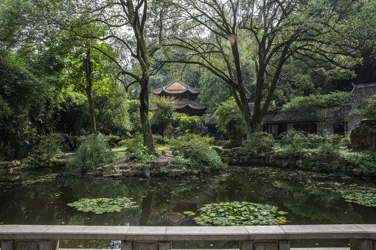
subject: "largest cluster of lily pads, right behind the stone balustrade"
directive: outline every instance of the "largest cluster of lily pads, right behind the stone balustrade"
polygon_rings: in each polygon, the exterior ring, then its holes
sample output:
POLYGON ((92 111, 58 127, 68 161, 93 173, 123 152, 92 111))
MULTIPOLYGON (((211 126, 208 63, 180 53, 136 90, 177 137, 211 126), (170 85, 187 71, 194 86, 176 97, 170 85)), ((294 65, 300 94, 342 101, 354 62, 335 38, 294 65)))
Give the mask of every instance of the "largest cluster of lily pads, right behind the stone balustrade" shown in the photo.
POLYGON ((247 201, 211 203, 200 210, 201 215, 194 221, 202 226, 278 225, 287 222, 285 217, 279 216, 287 212, 278 211, 278 207, 247 201))

